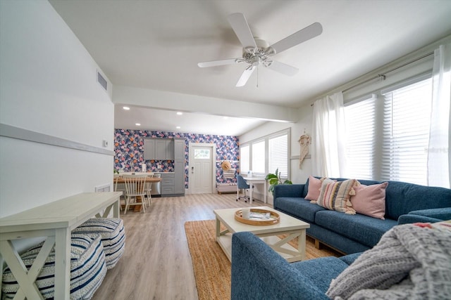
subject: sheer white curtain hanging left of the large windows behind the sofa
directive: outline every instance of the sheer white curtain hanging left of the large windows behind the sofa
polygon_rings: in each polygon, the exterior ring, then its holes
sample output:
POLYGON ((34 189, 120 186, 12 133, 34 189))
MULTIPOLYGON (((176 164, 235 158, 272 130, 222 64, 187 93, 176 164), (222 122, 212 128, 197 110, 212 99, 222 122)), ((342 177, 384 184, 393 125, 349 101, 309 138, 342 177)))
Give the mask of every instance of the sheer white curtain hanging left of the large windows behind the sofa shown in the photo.
POLYGON ((311 136, 312 172, 341 177, 345 173, 345 110, 342 92, 316 100, 311 136))

